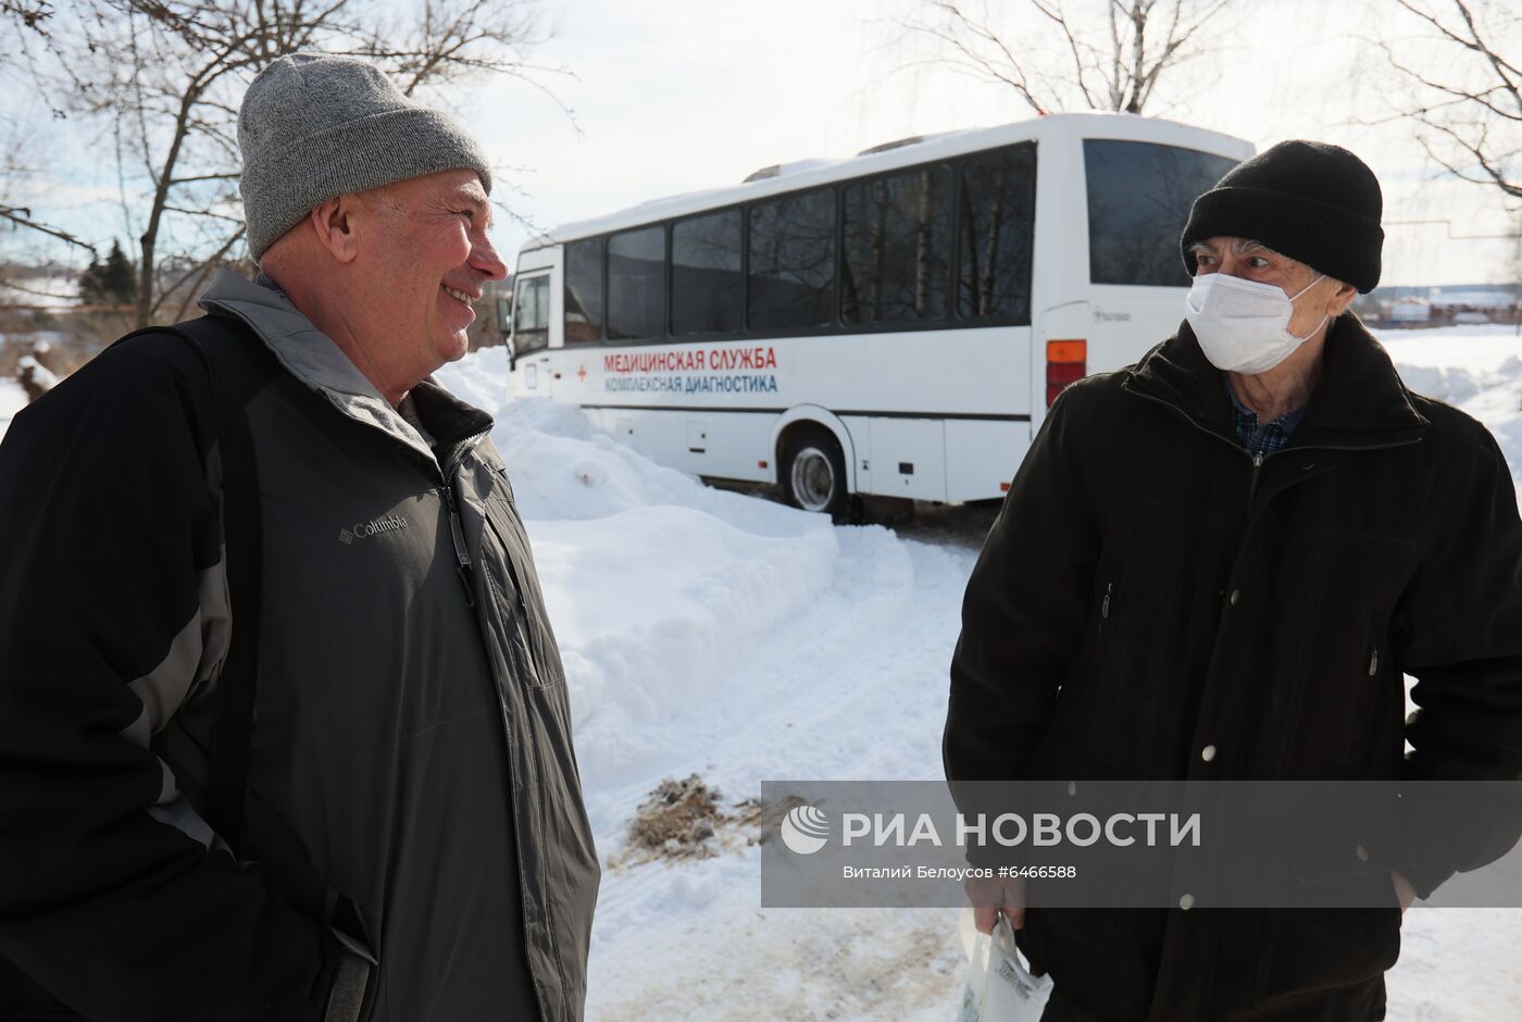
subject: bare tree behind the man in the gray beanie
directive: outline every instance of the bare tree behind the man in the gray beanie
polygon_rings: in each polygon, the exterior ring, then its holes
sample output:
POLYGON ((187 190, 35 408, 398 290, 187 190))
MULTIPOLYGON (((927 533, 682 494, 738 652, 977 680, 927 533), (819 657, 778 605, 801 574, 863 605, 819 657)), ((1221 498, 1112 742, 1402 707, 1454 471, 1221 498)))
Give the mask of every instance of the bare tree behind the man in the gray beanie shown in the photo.
POLYGON ((139 235, 135 321, 178 318, 236 260, 237 107, 275 58, 365 56, 406 94, 507 75, 548 93, 527 61, 533 0, 79 0, 79 30, 50 47, 68 111, 99 119, 139 235), (142 196, 129 196, 146 181, 142 196), (170 308, 177 303, 177 308, 170 308))

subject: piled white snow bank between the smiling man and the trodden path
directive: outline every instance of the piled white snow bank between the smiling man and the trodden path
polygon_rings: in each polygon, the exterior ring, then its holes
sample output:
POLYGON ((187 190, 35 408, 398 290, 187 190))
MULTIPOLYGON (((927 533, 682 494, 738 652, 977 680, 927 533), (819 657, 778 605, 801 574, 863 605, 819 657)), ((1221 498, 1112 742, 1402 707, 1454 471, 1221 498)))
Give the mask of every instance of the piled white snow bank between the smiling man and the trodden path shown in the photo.
MULTIPOLYGON (((662 468, 546 399, 505 401, 505 352, 437 378, 496 414, 560 640, 594 826, 627 818, 622 786, 689 754, 676 716, 726 720, 734 675, 836 582, 822 515, 715 490, 662 468)), ((892 561, 889 561, 892 562, 892 561)), ((900 586, 907 592, 909 585, 900 586)))

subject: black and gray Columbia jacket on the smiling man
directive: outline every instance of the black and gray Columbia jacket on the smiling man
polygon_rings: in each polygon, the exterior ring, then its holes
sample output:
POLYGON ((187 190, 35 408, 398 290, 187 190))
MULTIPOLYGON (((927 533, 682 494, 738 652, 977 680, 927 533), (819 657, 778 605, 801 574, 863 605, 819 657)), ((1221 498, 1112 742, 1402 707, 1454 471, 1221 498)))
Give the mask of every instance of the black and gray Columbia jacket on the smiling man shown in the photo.
POLYGON ((425 381, 425 439, 277 292, 202 306, 277 364, 240 861, 193 809, 237 628, 209 378, 143 335, 0 445, 0 1017, 317 1019, 332 925, 368 1019, 581 1017, 598 864, 490 417, 425 381))

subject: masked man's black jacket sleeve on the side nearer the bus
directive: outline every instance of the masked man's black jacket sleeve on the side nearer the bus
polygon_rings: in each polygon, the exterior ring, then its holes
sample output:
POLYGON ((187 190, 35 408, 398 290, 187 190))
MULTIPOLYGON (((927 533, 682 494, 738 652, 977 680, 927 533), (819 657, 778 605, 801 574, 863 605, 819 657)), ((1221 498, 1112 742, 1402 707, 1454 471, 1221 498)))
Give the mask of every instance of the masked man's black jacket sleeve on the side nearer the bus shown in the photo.
POLYGON ((1087 626, 1099 529, 1081 475, 1090 387, 1062 391, 1009 484, 962 602, 942 760, 960 781, 1023 780, 1087 626))

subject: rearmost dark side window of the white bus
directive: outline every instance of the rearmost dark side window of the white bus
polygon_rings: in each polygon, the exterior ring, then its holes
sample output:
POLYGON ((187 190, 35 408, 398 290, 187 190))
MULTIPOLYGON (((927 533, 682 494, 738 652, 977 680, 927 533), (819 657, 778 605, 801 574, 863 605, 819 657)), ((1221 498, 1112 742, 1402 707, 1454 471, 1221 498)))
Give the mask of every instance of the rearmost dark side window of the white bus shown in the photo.
POLYGON ((962 161, 956 312, 1030 323, 1036 151, 1018 145, 962 161))

